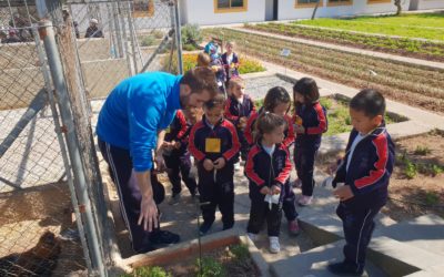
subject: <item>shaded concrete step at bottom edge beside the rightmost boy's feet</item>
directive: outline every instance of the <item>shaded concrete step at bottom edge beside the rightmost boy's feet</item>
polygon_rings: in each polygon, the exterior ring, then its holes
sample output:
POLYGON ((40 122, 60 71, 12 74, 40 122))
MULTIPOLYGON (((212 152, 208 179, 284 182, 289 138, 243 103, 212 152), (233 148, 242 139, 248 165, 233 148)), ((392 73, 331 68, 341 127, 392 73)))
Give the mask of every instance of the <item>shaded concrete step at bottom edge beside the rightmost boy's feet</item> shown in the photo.
MULTIPOLYGON (((327 269, 330 263, 342 260, 342 246, 344 240, 323 245, 287 259, 279 260, 270 265, 273 276, 334 276, 327 269)), ((365 266, 363 276, 386 276, 384 271, 375 267, 372 263, 365 266)))

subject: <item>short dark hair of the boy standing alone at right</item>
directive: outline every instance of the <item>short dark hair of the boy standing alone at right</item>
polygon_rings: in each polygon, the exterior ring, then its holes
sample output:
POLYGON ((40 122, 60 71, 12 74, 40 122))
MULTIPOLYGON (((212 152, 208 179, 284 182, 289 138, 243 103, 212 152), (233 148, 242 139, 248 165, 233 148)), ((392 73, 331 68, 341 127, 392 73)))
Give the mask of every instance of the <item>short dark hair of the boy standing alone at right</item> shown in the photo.
POLYGON ((365 116, 373 119, 376 115, 384 115, 385 99, 379 91, 365 89, 354 95, 350 101, 350 107, 364 112, 365 116))

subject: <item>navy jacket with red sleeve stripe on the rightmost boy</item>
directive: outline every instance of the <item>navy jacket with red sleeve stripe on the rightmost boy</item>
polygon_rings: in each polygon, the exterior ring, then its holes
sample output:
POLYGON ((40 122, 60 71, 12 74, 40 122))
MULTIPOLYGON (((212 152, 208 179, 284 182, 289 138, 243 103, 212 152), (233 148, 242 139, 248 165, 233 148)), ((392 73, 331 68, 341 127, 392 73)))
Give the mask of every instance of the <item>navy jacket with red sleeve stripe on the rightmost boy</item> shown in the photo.
POLYGON ((383 123, 357 143, 347 171, 346 161, 356 135, 356 130, 350 134, 346 154, 336 171, 333 186, 337 183, 350 185, 354 197, 344 203, 352 206, 382 206, 387 199, 389 179, 393 172, 394 143, 383 123))

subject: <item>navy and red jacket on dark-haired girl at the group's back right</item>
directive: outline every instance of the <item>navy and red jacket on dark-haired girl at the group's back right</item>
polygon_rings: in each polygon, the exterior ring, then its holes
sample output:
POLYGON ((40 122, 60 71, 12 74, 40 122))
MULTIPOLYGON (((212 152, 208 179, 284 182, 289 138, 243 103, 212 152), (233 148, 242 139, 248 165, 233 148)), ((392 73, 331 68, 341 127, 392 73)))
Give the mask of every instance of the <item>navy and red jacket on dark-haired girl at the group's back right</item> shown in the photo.
POLYGON ((321 145, 321 136, 327 131, 327 120, 326 111, 320 102, 296 106, 293 121, 295 124, 302 123, 305 129, 304 134, 296 135, 295 147, 321 145))

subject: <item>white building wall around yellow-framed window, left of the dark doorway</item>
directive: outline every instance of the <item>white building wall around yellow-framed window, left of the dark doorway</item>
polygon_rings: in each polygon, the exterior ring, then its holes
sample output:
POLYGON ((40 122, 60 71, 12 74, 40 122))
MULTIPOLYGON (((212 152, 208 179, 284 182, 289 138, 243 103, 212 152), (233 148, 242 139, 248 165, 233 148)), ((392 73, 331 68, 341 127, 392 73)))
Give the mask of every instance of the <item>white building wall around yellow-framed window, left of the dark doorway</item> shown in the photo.
POLYGON ((214 13, 213 0, 186 0, 186 23, 200 25, 264 21, 265 0, 248 0, 248 10, 214 13))

